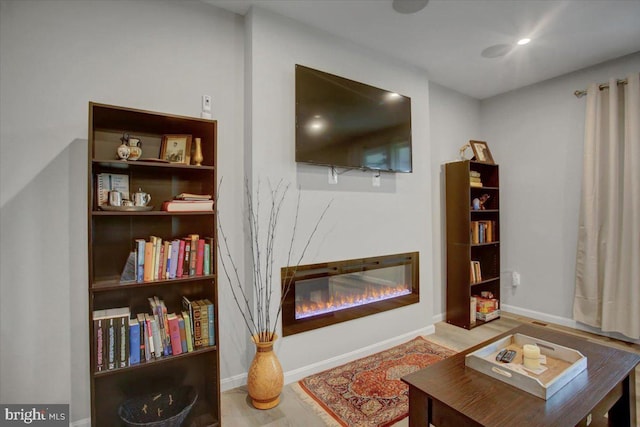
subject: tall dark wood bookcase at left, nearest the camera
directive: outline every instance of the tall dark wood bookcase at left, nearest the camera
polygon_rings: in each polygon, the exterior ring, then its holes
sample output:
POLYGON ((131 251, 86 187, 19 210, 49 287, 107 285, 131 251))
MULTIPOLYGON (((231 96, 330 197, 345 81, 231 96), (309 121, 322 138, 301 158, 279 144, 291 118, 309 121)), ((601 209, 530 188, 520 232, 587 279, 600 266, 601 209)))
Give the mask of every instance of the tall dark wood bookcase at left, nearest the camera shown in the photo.
MULTIPOLYGON (((184 425, 220 425, 220 354, 218 347, 216 213, 164 212, 162 203, 180 193, 216 196, 217 122, 132 108, 89 103, 88 255, 91 425, 123 425, 118 408, 127 399, 159 390, 191 386, 198 399, 184 425), (118 160, 116 148, 124 133, 140 138, 142 158, 118 160), (164 163, 159 159, 162 136, 188 134, 201 138, 202 166, 164 163), (124 174, 131 193, 151 195, 149 211, 106 211, 98 206, 97 176, 124 174), (163 241, 189 234, 213 237, 211 274, 152 281, 121 281, 121 273, 136 239, 158 236, 163 241), (157 296, 167 313, 182 312, 182 297, 209 299, 214 304, 216 342, 193 352, 164 356, 112 370, 96 372, 93 312, 128 307, 131 316, 149 313, 147 298, 157 296)), ((193 146, 192 146, 193 150, 193 146)), ((215 208, 214 208, 215 209, 215 208)))

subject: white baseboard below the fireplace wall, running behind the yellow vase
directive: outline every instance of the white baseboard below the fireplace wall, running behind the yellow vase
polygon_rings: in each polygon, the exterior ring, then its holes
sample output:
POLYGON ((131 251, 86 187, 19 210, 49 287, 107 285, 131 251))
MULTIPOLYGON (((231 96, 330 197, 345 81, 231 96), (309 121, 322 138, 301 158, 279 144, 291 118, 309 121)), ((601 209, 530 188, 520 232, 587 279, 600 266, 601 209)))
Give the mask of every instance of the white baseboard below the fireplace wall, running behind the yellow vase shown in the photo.
MULTIPOLYGON (((299 381, 309 375, 335 368, 336 366, 340 366, 347 362, 351 362, 352 360, 359 359, 361 357, 370 356, 374 353, 377 353, 382 350, 386 350, 390 347, 396 346, 398 344, 402 344, 412 338, 415 338, 418 335, 430 335, 435 333, 436 328, 434 325, 429 325, 425 328, 416 329, 411 332, 407 332, 402 335, 398 335, 396 337, 390 338, 388 340, 384 340, 367 347, 360 348, 358 350, 351 351, 349 353, 341 354, 336 357, 332 357, 330 359, 322 360, 316 363, 312 363, 310 365, 302 366, 297 369, 293 369, 291 371, 287 371, 284 373, 284 383, 291 384, 296 381, 299 381)), ((242 373, 239 375, 235 375, 229 378, 223 378, 220 381, 220 389, 224 391, 228 391, 237 387, 241 387, 247 384, 247 373, 242 373)))

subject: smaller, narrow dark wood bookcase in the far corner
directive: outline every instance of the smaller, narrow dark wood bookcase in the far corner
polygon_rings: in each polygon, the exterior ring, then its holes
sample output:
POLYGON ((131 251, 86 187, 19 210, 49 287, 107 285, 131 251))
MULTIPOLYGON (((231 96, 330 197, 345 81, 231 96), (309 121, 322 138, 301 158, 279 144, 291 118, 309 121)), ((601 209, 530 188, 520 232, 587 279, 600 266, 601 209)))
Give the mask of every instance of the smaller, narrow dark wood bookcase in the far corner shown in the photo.
MULTIPOLYGON (((445 165, 447 302, 446 321, 465 329, 484 323, 471 321, 471 297, 491 292, 500 301, 500 181, 498 165, 470 160, 445 165), (469 173, 480 173, 482 186, 470 185, 469 173), (472 201, 490 197, 485 209, 474 210, 472 201), (492 239, 474 242, 474 221, 491 221, 492 239), (482 280, 472 282, 471 261, 479 261, 482 280)), ((494 319, 495 320, 495 319, 494 319)), ((490 322, 490 321, 489 321, 490 322)))

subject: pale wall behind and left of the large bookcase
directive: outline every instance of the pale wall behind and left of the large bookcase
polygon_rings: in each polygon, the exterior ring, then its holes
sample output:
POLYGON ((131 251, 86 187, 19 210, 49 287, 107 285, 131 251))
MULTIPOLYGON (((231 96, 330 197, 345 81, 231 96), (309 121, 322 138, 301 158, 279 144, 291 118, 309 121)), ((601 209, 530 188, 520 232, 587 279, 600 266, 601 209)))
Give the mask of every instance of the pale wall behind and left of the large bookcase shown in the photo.
MULTIPOLYGON (((240 18, 198 1, 0 3, 1 402, 89 416, 89 101, 197 117, 212 95, 219 175, 241 195, 243 42, 240 18)), ((233 204, 221 209, 235 225, 233 204)), ((242 369, 223 355, 223 376, 242 369)))

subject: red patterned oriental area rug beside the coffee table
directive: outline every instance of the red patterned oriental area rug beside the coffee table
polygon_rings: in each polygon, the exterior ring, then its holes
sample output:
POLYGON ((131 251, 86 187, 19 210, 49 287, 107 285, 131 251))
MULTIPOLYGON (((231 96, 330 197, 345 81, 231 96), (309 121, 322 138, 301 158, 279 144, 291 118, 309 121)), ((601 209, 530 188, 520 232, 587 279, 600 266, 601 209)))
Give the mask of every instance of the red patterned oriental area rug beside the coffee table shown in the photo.
POLYGON ((330 425, 386 427, 405 418, 409 412, 409 387, 400 378, 455 353, 417 337, 308 376, 298 385, 313 400, 310 403, 318 405, 330 417, 323 417, 330 425))

